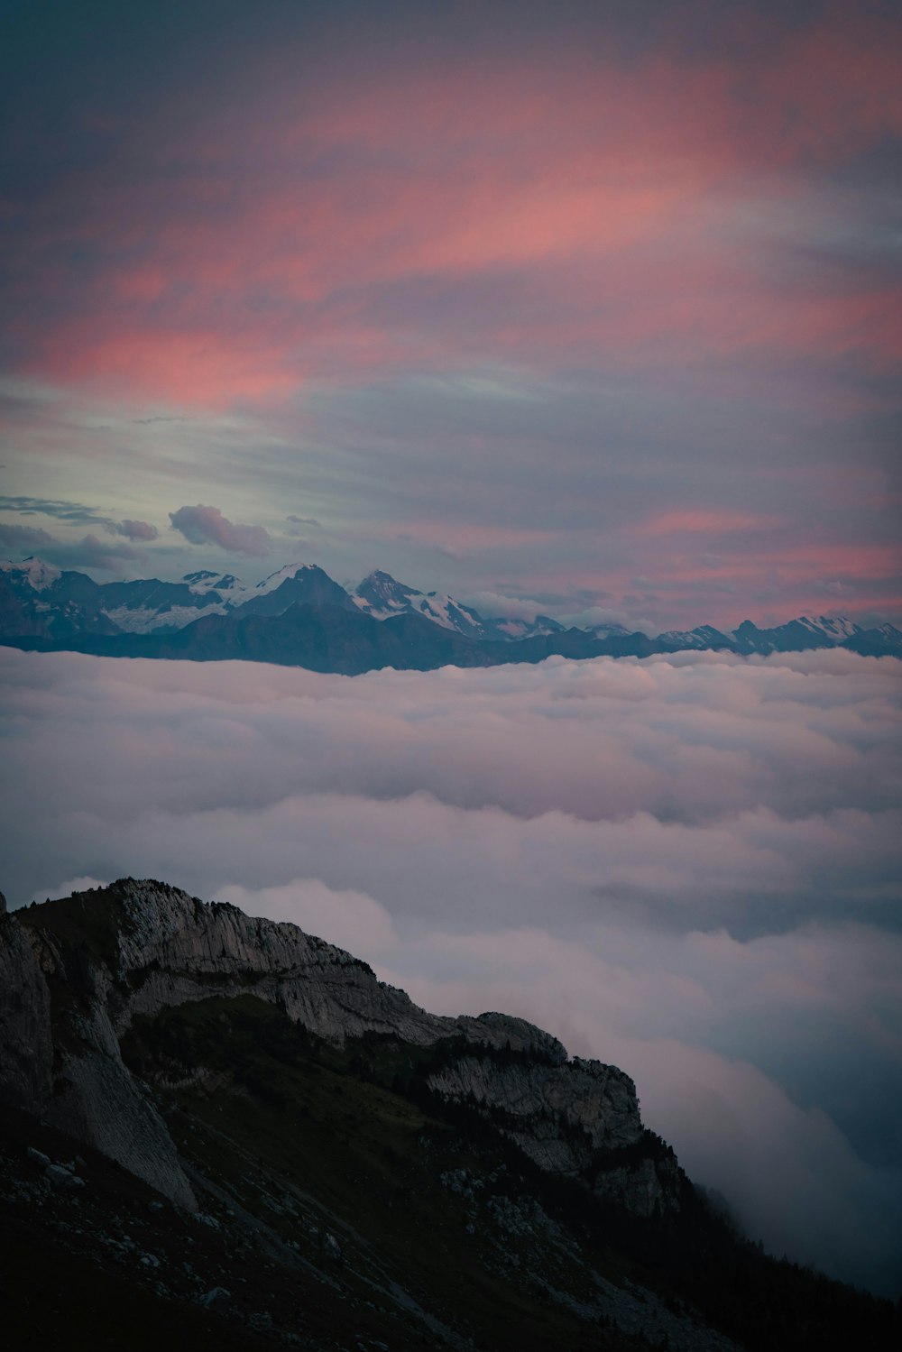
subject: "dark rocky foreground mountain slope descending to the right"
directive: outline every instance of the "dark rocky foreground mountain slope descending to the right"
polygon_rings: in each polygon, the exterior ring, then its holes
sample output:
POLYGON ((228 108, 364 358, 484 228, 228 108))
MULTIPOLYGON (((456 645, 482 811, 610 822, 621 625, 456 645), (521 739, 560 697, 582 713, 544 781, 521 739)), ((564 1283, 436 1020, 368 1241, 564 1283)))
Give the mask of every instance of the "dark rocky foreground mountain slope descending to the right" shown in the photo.
POLYGON ((623 1071, 154 880, 0 898, 0 1225, 9 1348, 899 1345, 742 1238, 623 1071))

